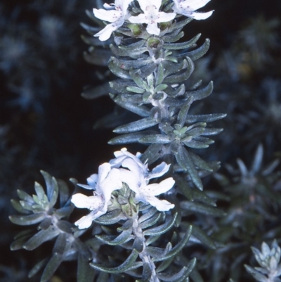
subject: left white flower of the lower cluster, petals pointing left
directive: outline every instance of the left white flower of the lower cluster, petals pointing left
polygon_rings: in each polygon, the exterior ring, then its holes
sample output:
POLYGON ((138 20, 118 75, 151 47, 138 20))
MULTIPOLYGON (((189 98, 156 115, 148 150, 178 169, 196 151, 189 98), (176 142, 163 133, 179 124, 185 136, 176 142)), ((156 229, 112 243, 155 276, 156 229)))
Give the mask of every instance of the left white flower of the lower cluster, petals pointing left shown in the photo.
POLYGON ((110 202, 111 193, 122 188, 119 169, 112 168, 108 162, 100 165, 98 174, 93 174, 87 179, 89 185, 78 184, 86 189, 96 189, 93 196, 85 196, 81 193, 74 194, 71 198, 76 207, 86 208, 91 212, 81 217, 75 225, 79 229, 89 228, 94 219, 107 212, 107 205, 110 202))

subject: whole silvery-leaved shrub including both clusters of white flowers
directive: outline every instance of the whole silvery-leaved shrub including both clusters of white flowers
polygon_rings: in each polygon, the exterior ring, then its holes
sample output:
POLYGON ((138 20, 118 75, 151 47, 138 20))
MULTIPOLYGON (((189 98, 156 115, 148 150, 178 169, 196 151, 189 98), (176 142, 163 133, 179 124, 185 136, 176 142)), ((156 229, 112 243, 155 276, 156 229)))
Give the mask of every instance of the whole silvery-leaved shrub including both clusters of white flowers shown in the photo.
MULTIPOLYGON (((220 162, 202 156, 202 149, 214 143, 211 136, 223 131, 211 123, 226 114, 201 110, 197 101, 211 95, 213 82, 190 77, 195 61, 207 53, 209 39, 199 47, 201 34, 178 40, 193 19, 212 15, 214 11, 197 11, 209 1, 116 0, 89 13, 102 27, 98 31, 84 25, 91 34, 84 40, 93 45, 85 58, 98 65, 108 59, 108 77, 115 78, 100 89, 109 89, 110 98, 135 117, 117 124, 113 132, 118 135, 108 143, 138 143, 145 149, 136 155, 126 148, 115 151, 115 158, 99 165, 87 185, 71 179, 72 190, 41 172, 46 192, 38 183, 36 195, 18 191, 20 200, 12 204, 21 214, 10 220, 31 228, 15 237, 11 249, 34 250, 55 241, 51 254, 34 266, 30 277, 42 270, 40 281, 50 281, 60 264, 77 260, 78 282, 238 281, 251 239, 260 239, 256 233, 280 236, 279 229, 263 230, 275 226, 271 214, 280 212, 275 193, 280 173, 273 172, 279 162, 261 168, 259 146, 251 169, 238 160, 238 172, 228 166, 233 176, 229 179, 217 173, 220 162), (99 52, 105 54, 100 60, 99 52), (204 189, 211 176, 221 190, 204 189), (257 220, 261 212, 266 214, 262 224, 257 220), (228 271, 223 262, 230 259, 236 268, 228 271)), ((277 241, 272 250, 266 243, 262 252, 252 250, 262 268, 246 266, 247 271, 258 281, 278 281, 277 241)))

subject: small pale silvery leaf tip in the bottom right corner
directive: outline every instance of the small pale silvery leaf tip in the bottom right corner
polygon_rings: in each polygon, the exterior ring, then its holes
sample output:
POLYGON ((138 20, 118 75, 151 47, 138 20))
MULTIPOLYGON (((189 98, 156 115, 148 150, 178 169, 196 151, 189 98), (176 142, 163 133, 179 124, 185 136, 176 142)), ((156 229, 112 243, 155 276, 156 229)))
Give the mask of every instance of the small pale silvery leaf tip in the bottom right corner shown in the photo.
POLYGON ((261 244, 261 251, 257 248, 251 247, 251 250, 254 253, 256 261, 259 263, 260 267, 250 267, 245 265, 249 274, 251 274, 256 281, 259 282, 280 282, 279 278, 281 275, 281 264, 280 264, 280 255, 281 249, 277 244, 277 241, 274 240, 271 249, 263 242, 261 244))

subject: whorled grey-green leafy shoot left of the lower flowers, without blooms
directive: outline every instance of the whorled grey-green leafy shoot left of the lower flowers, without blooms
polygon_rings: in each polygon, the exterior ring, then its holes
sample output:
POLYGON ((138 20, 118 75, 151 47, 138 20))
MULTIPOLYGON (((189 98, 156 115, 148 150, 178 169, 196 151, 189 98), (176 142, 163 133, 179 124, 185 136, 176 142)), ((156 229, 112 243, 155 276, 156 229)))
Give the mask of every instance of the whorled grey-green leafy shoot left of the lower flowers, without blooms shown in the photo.
POLYGON ((20 215, 9 217, 11 222, 22 226, 37 224, 37 228, 18 233, 11 244, 11 250, 34 250, 46 241, 54 241, 51 255, 41 259, 32 268, 29 277, 44 269, 40 282, 49 281, 63 261, 78 259, 77 281, 91 282, 91 251, 79 239, 84 232, 67 221, 73 210, 69 189, 64 181, 57 181, 44 171, 41 174, 46 182, 46 192, 35 182, 36 195, 30 196, 25 191, 18 190, 20 200, 11 200, 15 210, 20 212, 20 215), (89 271, 86 276, 85 271, 89 271))

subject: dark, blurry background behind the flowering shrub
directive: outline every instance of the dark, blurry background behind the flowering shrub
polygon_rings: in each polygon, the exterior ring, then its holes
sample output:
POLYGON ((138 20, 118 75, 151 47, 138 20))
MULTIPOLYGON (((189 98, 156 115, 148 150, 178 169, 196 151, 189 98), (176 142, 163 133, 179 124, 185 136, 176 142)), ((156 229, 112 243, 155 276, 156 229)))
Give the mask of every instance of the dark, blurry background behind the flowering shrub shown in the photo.
MULTIPOLYGON (((89 0, 1 1, 0 281, 27 281, 28 269, 40 255, 9 250, 20 230, 8 221, 16 190, 31 193, 33 182, 42 182, 39 169, 84 183, 117 150, 107 145, 114 136, 110 129, 92 129, 112 112, 113 102, 80 96, 107 72, 82 56, 88 46, 80 38, 86 32, 79 23, 92 24, 85 10, 93 6, 89 0)), ((185 39, 198 32, 202 42, 211 39, 193 77, 214 80, 214 93, 196 110, 228 113, 221 124, 225 131, 202 153, 222 165, 238 157, 249 164, 263 143, 268 163, 281 154, 281 25, 273 20, 281 14, 281 3, 212 0, 205 11, 213 8, 211 18, 190 23, 185 32, 185 39)), ((65 269, 60 276, 70 281, 75 269, 65 269)))

